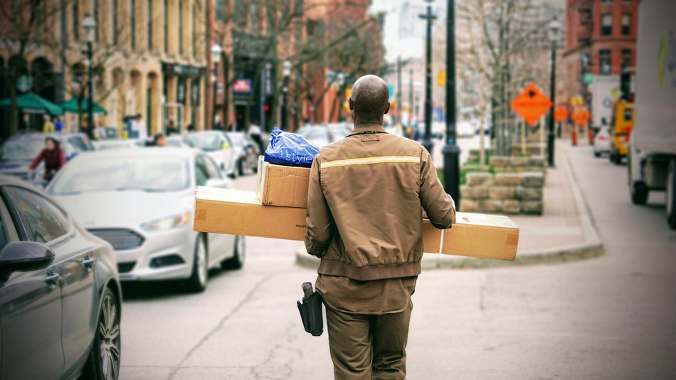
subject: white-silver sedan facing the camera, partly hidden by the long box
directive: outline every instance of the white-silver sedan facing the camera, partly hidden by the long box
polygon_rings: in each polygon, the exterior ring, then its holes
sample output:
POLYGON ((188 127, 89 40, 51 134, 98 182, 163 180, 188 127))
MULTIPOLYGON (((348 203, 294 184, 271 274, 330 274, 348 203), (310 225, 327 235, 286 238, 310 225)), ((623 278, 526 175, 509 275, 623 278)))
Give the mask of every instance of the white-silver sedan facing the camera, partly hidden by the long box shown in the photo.
POLYGON ((192 229, 195 187, 229 184, 208 154, 150 147, 73 159, 47 191, 112 244, 120 280, 187 280, 200 292, 210 268, 244 263, 243 237, 192 229))

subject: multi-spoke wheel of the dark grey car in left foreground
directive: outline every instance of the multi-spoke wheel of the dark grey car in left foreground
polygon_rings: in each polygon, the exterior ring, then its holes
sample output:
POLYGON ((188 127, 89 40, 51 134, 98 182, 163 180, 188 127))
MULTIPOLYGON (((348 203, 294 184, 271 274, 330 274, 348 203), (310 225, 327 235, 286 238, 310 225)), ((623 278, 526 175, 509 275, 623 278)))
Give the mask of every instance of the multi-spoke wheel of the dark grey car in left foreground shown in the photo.
POLYGON ((82 379, 111 379, 120 375, 122 345, 117 296, 106 287, 98 313, 94 343, 82 379))

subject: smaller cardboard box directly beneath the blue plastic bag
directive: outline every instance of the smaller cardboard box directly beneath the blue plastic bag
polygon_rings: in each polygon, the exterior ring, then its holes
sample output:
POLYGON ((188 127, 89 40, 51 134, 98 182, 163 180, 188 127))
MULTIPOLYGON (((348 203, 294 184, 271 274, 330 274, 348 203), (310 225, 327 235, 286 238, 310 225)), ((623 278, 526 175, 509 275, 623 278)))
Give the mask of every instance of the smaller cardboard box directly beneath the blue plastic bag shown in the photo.
POLYGON ((258 157, 256 195, 261 204, 307 208, 310 168, 270 164, 258 157))

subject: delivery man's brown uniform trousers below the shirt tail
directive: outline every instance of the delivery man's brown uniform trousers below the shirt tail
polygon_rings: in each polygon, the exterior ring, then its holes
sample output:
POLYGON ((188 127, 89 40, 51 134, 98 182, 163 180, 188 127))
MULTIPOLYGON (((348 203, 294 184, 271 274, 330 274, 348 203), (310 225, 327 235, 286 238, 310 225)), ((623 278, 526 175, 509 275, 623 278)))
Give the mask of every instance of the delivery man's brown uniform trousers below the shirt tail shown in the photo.
POLYGON ((406 342, 413 302, 403 312, 347 314, 326 307, 337 380, 406 379, 406 342))

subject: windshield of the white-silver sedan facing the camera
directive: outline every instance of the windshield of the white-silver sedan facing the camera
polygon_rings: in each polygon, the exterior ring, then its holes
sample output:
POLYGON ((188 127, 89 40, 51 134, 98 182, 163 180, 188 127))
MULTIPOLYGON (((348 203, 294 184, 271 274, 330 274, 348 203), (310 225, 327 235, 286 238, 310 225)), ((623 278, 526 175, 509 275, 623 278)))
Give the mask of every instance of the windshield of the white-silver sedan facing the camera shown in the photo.
POLYGON ((190 186, 188 162, 177 157, 88 157, 70 162, 51 186, 55 195, 92 191, 179 191, 190 186))

